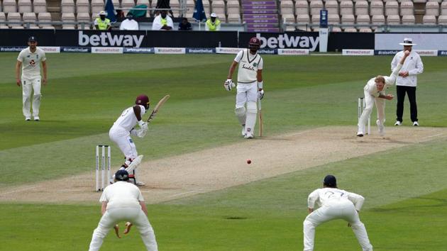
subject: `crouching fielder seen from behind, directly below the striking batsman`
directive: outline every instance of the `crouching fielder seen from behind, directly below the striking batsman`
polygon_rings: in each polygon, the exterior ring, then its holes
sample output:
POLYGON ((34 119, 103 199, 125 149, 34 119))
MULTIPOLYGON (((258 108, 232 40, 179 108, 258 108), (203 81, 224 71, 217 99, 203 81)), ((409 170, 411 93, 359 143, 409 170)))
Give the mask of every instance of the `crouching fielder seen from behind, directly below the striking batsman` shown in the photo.
POLYGON ((115 224, 119 221, 132 222, 140 230, 146 249, 158 250, 154 230, 148 220, 148 209, 140 189, 127 182, 129 175, 126 170, 118 170, 114 176, 116 182, 107 186, 99 199, 102 217, 98 227, 93 231, 89 251, 99 250, 111 228, 118 230, 115 224))

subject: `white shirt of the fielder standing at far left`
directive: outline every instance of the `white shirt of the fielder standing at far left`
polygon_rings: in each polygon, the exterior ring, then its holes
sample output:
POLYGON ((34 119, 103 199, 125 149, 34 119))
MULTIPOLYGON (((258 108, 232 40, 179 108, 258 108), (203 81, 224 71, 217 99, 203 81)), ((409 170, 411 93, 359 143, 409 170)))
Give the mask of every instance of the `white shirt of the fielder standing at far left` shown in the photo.
POLYGON ((40 48, 35 48, 35 52, 31 52, 30 48, 21 50, 17 60, 22 62, 22 78, 32 79, 40 77, 40 62, 47 60, 45 52, 40 48))

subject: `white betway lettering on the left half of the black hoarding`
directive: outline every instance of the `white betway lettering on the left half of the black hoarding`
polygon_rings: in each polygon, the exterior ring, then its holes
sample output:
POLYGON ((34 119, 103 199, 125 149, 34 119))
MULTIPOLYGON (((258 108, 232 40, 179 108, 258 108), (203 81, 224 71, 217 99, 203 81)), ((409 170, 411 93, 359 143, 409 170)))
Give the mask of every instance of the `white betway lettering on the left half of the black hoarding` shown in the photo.
POLYGON ((87 35, 79 30, 79 45, 93 46, 129 46, 139 48, 143 42, 144 35, 111 35, 111 33, 101 32, 100 35, 87 35))

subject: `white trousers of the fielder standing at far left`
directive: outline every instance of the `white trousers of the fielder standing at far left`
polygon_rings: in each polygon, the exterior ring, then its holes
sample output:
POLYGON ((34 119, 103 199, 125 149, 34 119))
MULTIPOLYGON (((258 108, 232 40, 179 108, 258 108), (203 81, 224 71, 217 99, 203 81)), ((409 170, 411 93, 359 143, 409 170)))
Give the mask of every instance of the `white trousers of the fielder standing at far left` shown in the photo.
POLYGON ((33 116, 39 116, 40 99, 40 77, 23 78, 22 77, 22 102, 23 102, 23 116, 25 118, 31 117, 31 92, 33 95, 33 116))

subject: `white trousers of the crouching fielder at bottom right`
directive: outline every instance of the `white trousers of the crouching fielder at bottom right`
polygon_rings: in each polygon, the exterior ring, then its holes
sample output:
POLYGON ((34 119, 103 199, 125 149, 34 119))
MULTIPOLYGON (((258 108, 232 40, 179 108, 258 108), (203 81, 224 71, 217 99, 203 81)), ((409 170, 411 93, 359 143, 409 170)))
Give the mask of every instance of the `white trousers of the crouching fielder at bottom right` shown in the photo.
POLYGON ((303 223, 304 231, 304 251, 314 250, 315 228, 321 223, 335 219, 345 220, 351 224, 363 251, 373 251, 373 246, 368 239, 365 225, 360 221, 357 211, 351 201, 333 200, 330 206, 322 206, 310 213, 303 223))

